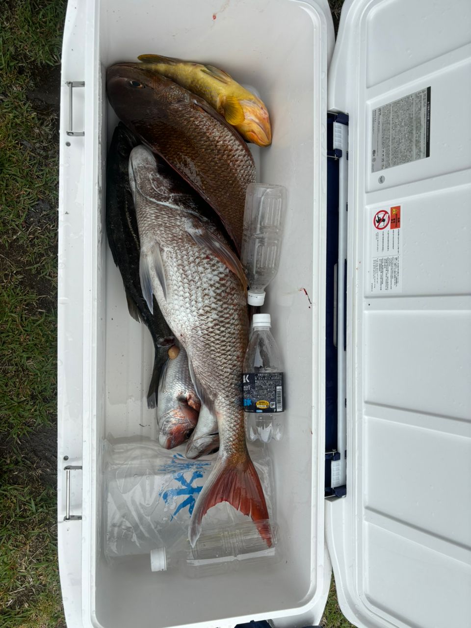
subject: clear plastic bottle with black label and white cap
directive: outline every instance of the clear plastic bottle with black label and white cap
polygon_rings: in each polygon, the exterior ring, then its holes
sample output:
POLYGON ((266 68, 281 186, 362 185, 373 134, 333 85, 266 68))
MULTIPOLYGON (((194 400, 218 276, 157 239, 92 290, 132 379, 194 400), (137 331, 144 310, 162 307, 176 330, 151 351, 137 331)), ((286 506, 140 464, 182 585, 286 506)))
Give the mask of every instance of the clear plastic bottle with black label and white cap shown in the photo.
POLYGON ((283 436, 283 365, 270 331, 269 314, 254 314, 252 333, 244 358, 244 411, 248 440, 268 443, 283 436))

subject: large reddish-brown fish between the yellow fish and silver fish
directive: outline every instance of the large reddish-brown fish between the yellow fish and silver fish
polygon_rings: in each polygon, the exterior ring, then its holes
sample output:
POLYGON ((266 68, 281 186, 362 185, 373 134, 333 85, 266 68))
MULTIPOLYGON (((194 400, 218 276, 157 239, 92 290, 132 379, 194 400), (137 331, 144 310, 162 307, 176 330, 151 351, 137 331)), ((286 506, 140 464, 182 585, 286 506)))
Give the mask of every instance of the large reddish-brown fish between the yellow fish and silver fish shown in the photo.
POLYGON ((247 144, 205 100, 143 65, 108 68, 114 111, 209 203, 240 252, 247 185, 256 180, 247 144))

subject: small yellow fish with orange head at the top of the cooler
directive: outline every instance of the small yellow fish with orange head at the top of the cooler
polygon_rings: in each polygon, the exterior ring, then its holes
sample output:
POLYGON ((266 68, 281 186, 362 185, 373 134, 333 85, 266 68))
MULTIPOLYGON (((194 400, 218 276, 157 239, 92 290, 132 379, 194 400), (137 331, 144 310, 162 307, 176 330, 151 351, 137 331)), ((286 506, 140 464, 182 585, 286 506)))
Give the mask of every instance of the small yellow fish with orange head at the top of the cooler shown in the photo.
POLYGON ((161 55, 139 55, 138 59, 146 67, 207 100, 248 142, 258 146, 271 144, 271 124, 266 106, 227 72, 214 65, 161 55))

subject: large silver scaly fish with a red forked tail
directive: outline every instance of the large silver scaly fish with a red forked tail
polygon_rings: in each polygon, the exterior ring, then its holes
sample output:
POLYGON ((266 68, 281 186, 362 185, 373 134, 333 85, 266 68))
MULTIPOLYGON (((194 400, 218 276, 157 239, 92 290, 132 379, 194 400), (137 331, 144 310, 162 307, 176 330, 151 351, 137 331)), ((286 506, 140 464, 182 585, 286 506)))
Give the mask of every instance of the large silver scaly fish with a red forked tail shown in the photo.
POLYGON ((198 398, 217 418, 219 455, 198 496, 190 543, 212 506, 227 501, 250 515, 271 546, 263 488, 247 451, 240 386, 249 336, 247 280, 229 241, 203 217, 194 198, 145 146, 129 158, 149 308, 155 296, 188 354, 198 398))

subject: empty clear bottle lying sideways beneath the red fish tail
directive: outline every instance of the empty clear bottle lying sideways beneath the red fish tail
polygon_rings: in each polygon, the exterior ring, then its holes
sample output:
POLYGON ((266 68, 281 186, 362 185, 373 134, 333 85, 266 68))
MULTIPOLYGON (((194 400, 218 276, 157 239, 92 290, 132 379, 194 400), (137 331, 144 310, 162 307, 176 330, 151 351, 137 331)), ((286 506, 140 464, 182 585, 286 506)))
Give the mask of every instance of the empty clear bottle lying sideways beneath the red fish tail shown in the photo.
POLYGON ((178 569, 190 576, 224 573, 237 568, 241 561, 277 560, 277 533, 275 524, 269 521, 252 521, 221 528, 209 526, 194 548, 186 537, 181 537, 173 546, 155 548, 151 551, 151 570, 168 571, 178 569), (258 526, 258 527, 257 527, 258 526), (260 530, 268 532, 271 546, 262 538, 260 530))

